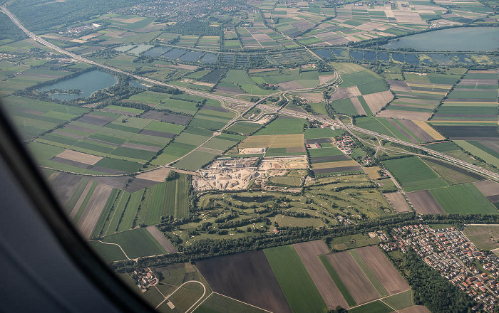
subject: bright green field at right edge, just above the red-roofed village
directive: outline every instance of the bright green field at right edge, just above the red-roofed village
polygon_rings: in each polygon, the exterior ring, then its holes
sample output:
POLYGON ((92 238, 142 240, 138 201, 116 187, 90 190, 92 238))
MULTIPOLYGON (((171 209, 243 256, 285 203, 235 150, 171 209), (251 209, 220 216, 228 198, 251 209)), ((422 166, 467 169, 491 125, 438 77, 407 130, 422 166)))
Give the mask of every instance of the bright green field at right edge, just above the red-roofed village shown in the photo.
POLYGON ((499 213, 498 208, 471 183, 431 189, 430 192, 449 214, 499 213))

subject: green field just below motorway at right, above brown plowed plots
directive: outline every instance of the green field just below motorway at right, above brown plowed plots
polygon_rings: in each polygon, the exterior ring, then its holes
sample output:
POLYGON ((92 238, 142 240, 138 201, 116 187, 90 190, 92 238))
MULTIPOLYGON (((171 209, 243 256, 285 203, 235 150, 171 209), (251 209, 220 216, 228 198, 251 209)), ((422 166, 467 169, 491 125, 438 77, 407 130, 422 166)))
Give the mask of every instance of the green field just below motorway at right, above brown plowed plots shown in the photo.
POLYGON ((407 192, 448 186, 418 157, 391 159, 382 162, 407 192))

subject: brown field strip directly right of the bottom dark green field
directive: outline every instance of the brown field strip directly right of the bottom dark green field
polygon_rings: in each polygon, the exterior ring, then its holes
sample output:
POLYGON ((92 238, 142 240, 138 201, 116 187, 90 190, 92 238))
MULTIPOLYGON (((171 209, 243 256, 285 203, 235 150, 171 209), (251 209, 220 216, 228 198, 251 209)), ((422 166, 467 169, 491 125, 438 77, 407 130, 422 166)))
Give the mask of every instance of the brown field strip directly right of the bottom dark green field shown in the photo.
POLYGON ((318 255, 329 253, 329 249, 322 240, 316 240, 309 243, 297 243, 294 245, 303 265, 307 268, 310 277, 314 281, 319 293, 326 302, 328 309, 334 309, 338 305, 348 308, 344 297, 341 295, 338 287, 334 284, 331 276, 327 272, 318 255))

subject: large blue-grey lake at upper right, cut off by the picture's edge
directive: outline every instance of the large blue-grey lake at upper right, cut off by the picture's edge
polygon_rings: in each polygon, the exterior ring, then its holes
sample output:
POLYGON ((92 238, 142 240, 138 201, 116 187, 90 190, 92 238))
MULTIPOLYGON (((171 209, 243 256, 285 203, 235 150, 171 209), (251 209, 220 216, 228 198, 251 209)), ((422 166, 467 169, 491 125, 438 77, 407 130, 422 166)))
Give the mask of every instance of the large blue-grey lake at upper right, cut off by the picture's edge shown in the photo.
POLYGON ((414 48, 418 51, 493 51, 499 48, 499 28, 440 29, 394 39, 383 47, 414 48))

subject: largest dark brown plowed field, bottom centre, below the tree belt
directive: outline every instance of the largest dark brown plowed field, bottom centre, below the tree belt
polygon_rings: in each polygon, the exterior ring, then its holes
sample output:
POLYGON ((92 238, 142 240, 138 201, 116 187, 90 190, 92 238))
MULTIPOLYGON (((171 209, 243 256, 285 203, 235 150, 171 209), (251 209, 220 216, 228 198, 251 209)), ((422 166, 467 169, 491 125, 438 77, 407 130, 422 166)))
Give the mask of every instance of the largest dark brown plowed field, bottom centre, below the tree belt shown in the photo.
POLYGON ((275 313, 292 312, 262 250, 210 258, 196 266, 215 292, 275 313))

